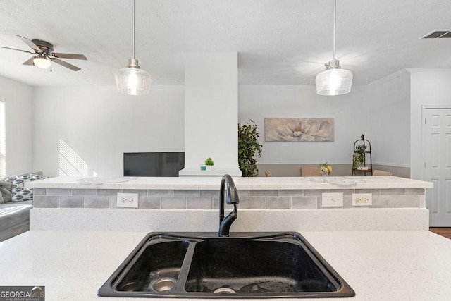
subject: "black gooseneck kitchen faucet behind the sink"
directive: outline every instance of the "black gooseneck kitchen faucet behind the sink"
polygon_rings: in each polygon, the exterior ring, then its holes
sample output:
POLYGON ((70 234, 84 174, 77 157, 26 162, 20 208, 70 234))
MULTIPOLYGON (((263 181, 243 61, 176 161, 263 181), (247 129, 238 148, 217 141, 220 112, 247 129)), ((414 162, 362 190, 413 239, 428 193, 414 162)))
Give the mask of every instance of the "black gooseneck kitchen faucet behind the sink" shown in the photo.
POLYGON ((219 236, 228 236, 230 226, 233 221, 237 219, 237 204, 240 204, 237 188, 233 179, 229 175, 224 175, 221 180, 221 192, 219 193, 219 236), (233 204, 233 211, 224 219, 224 197, 226 197, 227 204, 233 204))

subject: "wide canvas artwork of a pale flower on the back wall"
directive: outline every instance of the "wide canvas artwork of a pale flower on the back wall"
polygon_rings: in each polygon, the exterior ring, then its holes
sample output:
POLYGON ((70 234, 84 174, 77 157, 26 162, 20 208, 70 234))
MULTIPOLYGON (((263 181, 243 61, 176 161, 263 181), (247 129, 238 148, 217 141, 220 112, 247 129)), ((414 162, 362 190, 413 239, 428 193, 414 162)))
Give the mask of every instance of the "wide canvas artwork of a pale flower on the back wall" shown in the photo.
POLYGON ((333 140, 333 118, 265 118, 265 141, 333 140))

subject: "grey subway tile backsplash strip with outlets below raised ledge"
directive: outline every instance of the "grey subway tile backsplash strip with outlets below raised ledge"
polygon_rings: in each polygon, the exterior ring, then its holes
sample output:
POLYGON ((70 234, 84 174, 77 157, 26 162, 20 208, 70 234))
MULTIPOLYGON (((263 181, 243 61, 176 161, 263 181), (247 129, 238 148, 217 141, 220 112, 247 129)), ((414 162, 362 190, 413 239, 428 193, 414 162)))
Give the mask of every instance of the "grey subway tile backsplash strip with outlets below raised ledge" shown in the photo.
MULTIPOLYGON (((139 209, 218 209, 219 190, 130 190, 34 188, 37 208, 126 209, 116 206, 118 192, 137 193, 139 209)), ((330 190, 238 190, 239 209, 323 209, 323 192, 342 192, 341 208, 425 208, 423 188, 330 189, 330 190), (352 206, 353 193, 371 193, 371 206, 352 206)), ((231 206, 226 205, 226 209, 231 206)), ((328 207, 330 208, 330 207, 328 207)), ((333 207, 337 208, 337 207, 333 207)), ((340 208, 340 207, 338 207, 340 208)))

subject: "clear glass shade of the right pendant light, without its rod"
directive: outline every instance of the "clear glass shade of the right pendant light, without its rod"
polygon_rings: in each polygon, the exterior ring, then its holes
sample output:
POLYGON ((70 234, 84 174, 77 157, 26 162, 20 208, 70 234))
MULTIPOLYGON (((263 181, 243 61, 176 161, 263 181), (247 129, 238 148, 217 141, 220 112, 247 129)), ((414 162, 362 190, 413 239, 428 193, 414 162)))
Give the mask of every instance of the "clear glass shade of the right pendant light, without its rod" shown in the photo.
POLYGON ((316 92, 320 95, 341 95, 351 91, 352 72, 328 69, 316 75, 316 92))

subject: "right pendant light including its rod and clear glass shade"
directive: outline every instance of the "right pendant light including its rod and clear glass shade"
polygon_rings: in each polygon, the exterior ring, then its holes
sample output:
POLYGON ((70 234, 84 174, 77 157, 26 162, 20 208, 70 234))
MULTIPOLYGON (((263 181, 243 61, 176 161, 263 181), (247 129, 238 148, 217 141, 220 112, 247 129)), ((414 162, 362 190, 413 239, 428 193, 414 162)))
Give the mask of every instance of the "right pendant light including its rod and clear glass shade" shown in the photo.
POLYGON ((333 59, 324 64, 326 70, 316 75, 316 92, 320 95, 341 95, 351 91, 352 72, 340 67, 335 59, 335 23, 337 20, 337 0, 333 0, 333 59))

